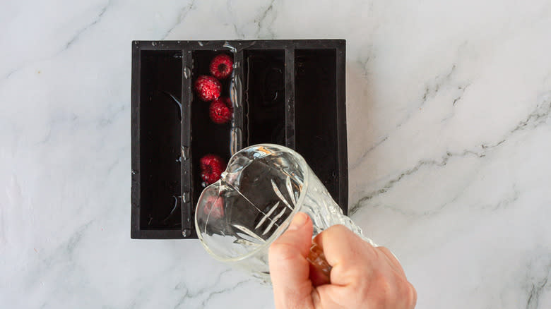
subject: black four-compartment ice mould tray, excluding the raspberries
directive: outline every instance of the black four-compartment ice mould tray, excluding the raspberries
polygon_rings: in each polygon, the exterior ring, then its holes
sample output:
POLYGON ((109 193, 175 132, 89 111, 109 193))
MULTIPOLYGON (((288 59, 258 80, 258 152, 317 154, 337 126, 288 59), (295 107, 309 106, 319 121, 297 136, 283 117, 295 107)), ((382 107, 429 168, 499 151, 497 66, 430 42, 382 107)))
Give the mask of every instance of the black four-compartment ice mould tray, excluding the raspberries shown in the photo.
POLYGON ((131 90, 131 238, 196 238, 199 159, 259 143, 297 150, 347 212, 345 40, 134 41, 131 90), (217 125, 193 84, 222 53, 235 105, 217 125))

